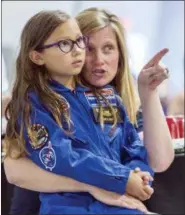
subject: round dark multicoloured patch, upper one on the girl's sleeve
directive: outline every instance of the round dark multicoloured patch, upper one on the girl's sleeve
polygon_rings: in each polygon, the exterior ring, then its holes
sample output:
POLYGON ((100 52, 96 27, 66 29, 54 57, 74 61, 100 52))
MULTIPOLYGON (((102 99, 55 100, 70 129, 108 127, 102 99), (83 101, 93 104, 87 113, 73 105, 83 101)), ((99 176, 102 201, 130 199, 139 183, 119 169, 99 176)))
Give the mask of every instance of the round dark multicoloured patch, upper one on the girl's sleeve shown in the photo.
POLYGON ((39 149, 48 142, 49 140, 48 131, 43 125, 33 124, 31 126, 31 130, 33 137, 35 138, 35 141, 33 142, 30 138, 30 135, 28 135, 32 148, 39 149))

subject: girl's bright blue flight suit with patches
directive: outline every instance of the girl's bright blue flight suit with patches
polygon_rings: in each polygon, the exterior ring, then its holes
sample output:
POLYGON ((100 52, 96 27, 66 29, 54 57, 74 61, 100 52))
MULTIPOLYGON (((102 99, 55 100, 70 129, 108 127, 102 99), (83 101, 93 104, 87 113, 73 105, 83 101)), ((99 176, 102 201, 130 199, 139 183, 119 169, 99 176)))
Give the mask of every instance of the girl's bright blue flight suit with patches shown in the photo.
MULTIPOLYGON (((31 123, 37 132, 39 145, 31 143, 25 129, 29 158, 38 166, 59 175, 74 178, 109 191, 124 194, 131 169, 148 166, 147 153, 136 130, 129 122, 120 100, 111 86, 106 86, 110 103, 120 108, 122 122, 110 135, 112 124, 104 130, 95 122, 93 107, 97 100, 88 88, 77 86, 75 92, 56 81, 50 87, 67 101, 74 124, 73 134, 66 135, 53 119, 35 92, 29 94, 32 105, 31 123)), ((64 122, 65 124, 65 122, 64 122)), ((137 210, 110 207, 89 193, 41 193, 41 214, 135 214, 137 210)), ((142 214, 142 213, 141 213, 142 214)))

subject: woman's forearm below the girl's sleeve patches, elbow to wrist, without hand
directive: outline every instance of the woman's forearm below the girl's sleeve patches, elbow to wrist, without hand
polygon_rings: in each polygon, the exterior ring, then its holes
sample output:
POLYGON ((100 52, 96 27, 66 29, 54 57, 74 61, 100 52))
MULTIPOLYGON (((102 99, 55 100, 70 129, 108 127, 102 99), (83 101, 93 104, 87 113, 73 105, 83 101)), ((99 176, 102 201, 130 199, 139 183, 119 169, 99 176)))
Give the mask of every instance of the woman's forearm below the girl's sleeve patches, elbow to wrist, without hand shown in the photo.
POLYGON ((28 158, 4 161, 9 183, 38 192, 89 192, 92 186, 41 169, 28 158))

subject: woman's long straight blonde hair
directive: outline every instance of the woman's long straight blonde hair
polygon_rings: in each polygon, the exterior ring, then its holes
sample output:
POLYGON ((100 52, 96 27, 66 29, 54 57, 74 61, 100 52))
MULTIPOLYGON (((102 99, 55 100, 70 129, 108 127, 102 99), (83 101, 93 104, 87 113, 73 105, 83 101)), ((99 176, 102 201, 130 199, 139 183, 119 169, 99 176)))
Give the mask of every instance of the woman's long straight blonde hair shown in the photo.
POLYGON ((119 48, 119 64, 117 74, 110 84, 115 87, 120 95, 130 121, 133 124, 137 124, 138 96, 134 88, 132 74, 129 70, 125 33, 119 18, 104 9, 88 8, 80 12, 76 16, 76 20, 82 33, 85 35, 89 35, 106 26, 112 27, 119 48))

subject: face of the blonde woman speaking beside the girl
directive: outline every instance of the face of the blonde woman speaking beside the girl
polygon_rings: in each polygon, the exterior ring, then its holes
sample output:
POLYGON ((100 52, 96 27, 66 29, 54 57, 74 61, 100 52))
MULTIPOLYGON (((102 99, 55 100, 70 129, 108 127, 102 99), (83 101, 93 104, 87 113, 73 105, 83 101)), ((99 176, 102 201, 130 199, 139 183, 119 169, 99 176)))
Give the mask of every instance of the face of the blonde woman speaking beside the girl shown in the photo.
POLYGON ((83 77, 93 86, 103 87, 116 76, 119 61, 117 39, 111 26, 91 33, 83 77))

